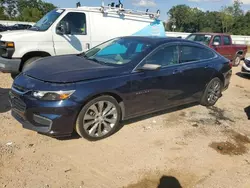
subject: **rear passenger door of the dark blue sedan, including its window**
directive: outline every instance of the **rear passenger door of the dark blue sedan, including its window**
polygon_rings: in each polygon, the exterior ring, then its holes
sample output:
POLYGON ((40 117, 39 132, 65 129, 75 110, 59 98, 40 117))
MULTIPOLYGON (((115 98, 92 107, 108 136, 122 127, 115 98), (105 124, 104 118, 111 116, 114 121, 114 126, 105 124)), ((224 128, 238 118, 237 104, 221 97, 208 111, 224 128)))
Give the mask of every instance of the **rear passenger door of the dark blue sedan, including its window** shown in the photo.
POLYGON ((182 95, 176 96, 183 103, 197 101, 214 74, 216 54, 200 45, 182 44, 180 46, 180 67, 182 70, 182 95))

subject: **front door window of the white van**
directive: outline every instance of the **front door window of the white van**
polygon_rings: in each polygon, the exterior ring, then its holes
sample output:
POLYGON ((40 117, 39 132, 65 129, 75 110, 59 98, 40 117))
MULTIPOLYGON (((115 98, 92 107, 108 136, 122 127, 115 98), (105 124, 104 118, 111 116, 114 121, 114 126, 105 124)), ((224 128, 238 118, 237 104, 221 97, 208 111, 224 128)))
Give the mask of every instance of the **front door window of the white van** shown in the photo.
POLYGON ((62 20, 68 22, 72 35, 86 35, 86 15, 80 12, 70 12, 62 20))

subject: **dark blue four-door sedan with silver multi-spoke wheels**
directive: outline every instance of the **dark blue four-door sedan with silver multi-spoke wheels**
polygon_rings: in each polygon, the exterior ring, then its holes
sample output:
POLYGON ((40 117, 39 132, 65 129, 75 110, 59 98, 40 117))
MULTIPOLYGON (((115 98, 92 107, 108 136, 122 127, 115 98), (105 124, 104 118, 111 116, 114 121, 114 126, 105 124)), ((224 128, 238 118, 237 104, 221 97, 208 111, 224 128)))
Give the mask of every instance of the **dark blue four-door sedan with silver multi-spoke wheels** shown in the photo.
POLYGON ((120 37, 26 67, 10 92, 24 128, 99 140, 122 120, 199 101, 214 105, 232 74, 214 50, 178 38, 120 37))

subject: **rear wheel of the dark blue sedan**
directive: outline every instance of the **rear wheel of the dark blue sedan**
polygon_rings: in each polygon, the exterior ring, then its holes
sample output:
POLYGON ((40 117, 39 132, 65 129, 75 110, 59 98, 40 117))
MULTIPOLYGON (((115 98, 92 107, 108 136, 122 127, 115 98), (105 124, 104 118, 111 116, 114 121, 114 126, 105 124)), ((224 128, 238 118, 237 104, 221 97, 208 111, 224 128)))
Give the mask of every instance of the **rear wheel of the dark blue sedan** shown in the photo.
POLYGON ((213 106, 221 97, 222 91, 222 82, 218 77, 213 78, 208 84, 201 98, 201 105, 203 106, 213 106), (218 88, 213 90, 216 87, 215 84, 218 83, 218 88), (211 99, 212 97, 212 99, 211 99))

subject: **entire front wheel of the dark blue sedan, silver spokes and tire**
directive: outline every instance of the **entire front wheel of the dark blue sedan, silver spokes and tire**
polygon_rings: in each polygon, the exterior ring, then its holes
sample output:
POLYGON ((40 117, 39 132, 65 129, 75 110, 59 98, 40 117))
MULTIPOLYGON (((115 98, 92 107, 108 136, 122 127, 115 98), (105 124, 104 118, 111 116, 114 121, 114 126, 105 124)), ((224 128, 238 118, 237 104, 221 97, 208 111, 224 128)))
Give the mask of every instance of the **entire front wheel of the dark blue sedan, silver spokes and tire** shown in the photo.
POLYGON ((111 96, 100 96, 88 102, 78 115, 76 132, 90 141, 106 138, 119 129, 121 108, 111 96))

